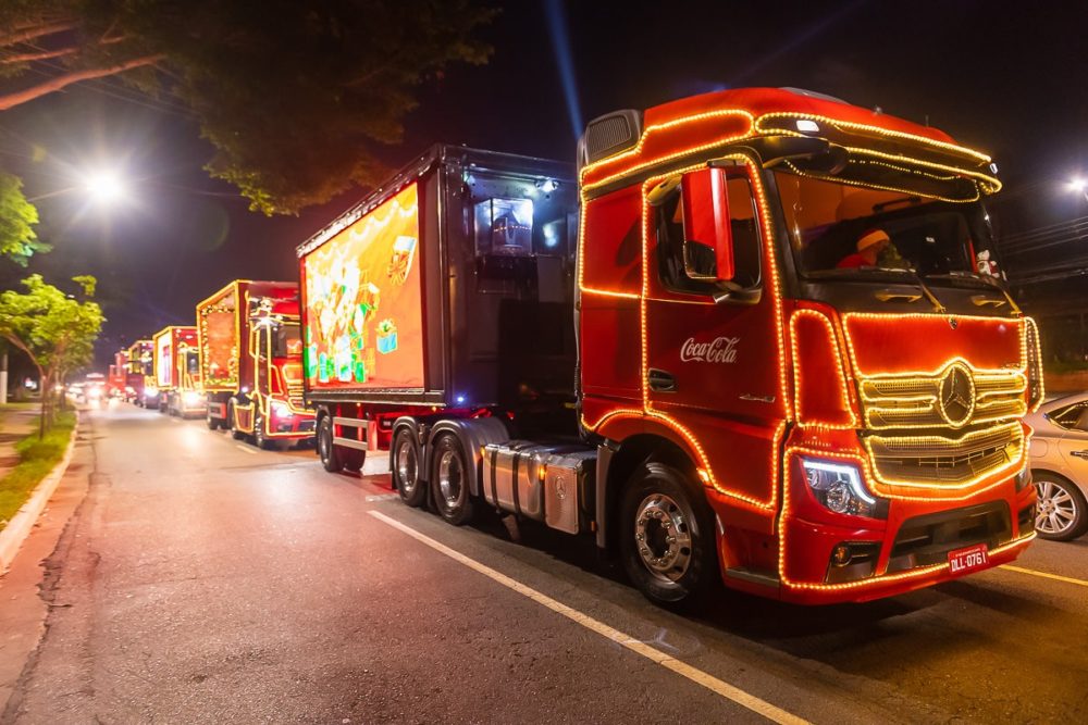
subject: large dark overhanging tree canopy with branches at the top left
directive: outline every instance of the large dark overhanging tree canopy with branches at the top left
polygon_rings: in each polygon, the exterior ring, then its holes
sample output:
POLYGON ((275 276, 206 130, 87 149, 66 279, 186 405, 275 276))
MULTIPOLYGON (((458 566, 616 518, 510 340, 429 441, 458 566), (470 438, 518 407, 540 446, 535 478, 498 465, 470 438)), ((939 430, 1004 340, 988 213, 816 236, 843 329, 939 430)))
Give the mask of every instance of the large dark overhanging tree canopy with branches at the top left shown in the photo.
POLYGON ((169 93, 215 149, 206 168, 250 208, 295 213, 386 173, 415 89, 483 63, 478 0, 3 0, 0 111, 119 76, 169 93), (36 71, 46 77, 30 75, 36 71))

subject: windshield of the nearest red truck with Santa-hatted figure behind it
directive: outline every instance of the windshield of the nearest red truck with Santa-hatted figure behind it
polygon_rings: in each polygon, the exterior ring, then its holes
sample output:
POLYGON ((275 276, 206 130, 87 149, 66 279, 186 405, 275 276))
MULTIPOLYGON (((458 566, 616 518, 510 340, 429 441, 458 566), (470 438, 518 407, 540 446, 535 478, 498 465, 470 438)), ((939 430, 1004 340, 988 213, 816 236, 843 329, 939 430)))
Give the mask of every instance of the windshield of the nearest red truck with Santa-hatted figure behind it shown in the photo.
POLYGON ((923 277, 1002 277, 977 202, 938 201, 775 172, 803 276, 915 270, 923 277))

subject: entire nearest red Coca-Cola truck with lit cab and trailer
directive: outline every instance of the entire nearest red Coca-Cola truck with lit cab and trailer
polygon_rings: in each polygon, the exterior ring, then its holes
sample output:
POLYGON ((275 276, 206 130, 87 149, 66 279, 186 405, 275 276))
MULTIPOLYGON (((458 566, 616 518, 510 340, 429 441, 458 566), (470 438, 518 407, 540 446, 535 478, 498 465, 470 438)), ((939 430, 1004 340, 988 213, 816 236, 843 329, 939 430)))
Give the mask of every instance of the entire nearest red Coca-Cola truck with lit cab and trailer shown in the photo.
POLYGON ((298 249, 321 461, 387 430, 405 503, 591 534, 665 605, 1012 561, 1043 389, 996 171, 792 89, 598 117, 577 173, 435 147, 298 249))

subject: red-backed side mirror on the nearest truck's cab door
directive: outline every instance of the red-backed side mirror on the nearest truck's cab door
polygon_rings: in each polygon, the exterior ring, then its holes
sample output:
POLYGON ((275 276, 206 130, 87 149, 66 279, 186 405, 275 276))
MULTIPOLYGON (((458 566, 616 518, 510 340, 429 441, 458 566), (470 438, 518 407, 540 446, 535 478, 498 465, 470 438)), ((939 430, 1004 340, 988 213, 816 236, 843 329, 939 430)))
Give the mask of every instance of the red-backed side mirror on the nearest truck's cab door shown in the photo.
POLYGON ((692 279, 733 278, 733 233, 729 224, 726 170, 701 168, 680 180, 683 200, 683 265, 692 279))

